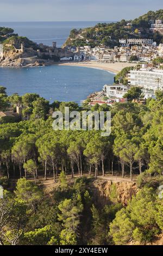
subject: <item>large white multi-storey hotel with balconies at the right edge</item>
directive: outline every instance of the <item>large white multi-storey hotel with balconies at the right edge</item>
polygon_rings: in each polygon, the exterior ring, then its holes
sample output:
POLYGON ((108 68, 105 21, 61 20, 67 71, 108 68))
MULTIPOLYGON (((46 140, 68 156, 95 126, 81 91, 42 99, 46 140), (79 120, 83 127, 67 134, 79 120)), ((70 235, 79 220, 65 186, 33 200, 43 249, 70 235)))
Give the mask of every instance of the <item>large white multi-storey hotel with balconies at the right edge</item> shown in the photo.
POLYGON ((140 86, 148 90, 163 90, 163 70, 159 69, 140 69, 131 70, 129 75, 131 86, 140 86), (158 81, 158 78, 160 80, 158 81))

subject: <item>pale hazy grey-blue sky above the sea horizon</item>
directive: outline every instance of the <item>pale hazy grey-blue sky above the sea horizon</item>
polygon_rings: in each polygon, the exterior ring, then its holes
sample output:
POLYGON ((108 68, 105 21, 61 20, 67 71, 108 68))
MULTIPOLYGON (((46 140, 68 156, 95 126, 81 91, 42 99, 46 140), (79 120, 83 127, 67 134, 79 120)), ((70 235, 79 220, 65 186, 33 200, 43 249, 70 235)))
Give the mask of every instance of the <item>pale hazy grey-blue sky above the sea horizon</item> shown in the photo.
POLYGON ((162 0, 0 0, 0 21, 117 21, 162 8, 162 0))

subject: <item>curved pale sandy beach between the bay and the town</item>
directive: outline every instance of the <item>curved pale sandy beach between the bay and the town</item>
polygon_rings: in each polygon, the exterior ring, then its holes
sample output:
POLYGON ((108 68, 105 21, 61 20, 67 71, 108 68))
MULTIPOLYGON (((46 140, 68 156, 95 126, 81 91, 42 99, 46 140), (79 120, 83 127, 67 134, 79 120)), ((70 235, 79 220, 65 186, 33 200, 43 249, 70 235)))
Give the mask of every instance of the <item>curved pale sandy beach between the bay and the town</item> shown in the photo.
POLYGON ((90 62, 68 62, 68 63, 60 63, 58 65, 68 65, 68 66, 85 66, 87 68, 95 68, 95 69, 103 69, 106 71, 113 72, 117 74, 123 68, 127 66, 136 66, 135 63, 123 63, 123 62, 116 62, 116 63, 98 63, 94 61, 90 62))

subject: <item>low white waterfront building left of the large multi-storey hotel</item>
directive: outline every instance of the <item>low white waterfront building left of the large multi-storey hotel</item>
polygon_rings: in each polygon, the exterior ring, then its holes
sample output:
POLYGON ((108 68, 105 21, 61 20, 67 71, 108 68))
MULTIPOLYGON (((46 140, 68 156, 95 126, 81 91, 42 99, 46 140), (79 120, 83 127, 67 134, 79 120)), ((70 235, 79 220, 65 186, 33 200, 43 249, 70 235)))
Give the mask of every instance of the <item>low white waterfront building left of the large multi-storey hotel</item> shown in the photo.
POLYGON ((122 99, 124 94, 128 92, 128 87, 123 84, 105 84, 103 87, 103 93, 108 98, 122 99))

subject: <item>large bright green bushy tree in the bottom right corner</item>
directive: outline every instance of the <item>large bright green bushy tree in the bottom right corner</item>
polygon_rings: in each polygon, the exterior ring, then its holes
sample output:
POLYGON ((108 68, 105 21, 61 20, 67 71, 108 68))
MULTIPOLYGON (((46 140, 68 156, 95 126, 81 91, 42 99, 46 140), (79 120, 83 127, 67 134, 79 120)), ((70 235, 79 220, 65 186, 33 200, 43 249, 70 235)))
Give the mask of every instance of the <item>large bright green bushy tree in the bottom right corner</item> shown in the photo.
POLYGON ((117 212, 110 224, 109 235, 116 245, 130 241, 151 242, 155 235, 162 233, 162 199, 152 188, 143 187, 128 204, 117 212))

